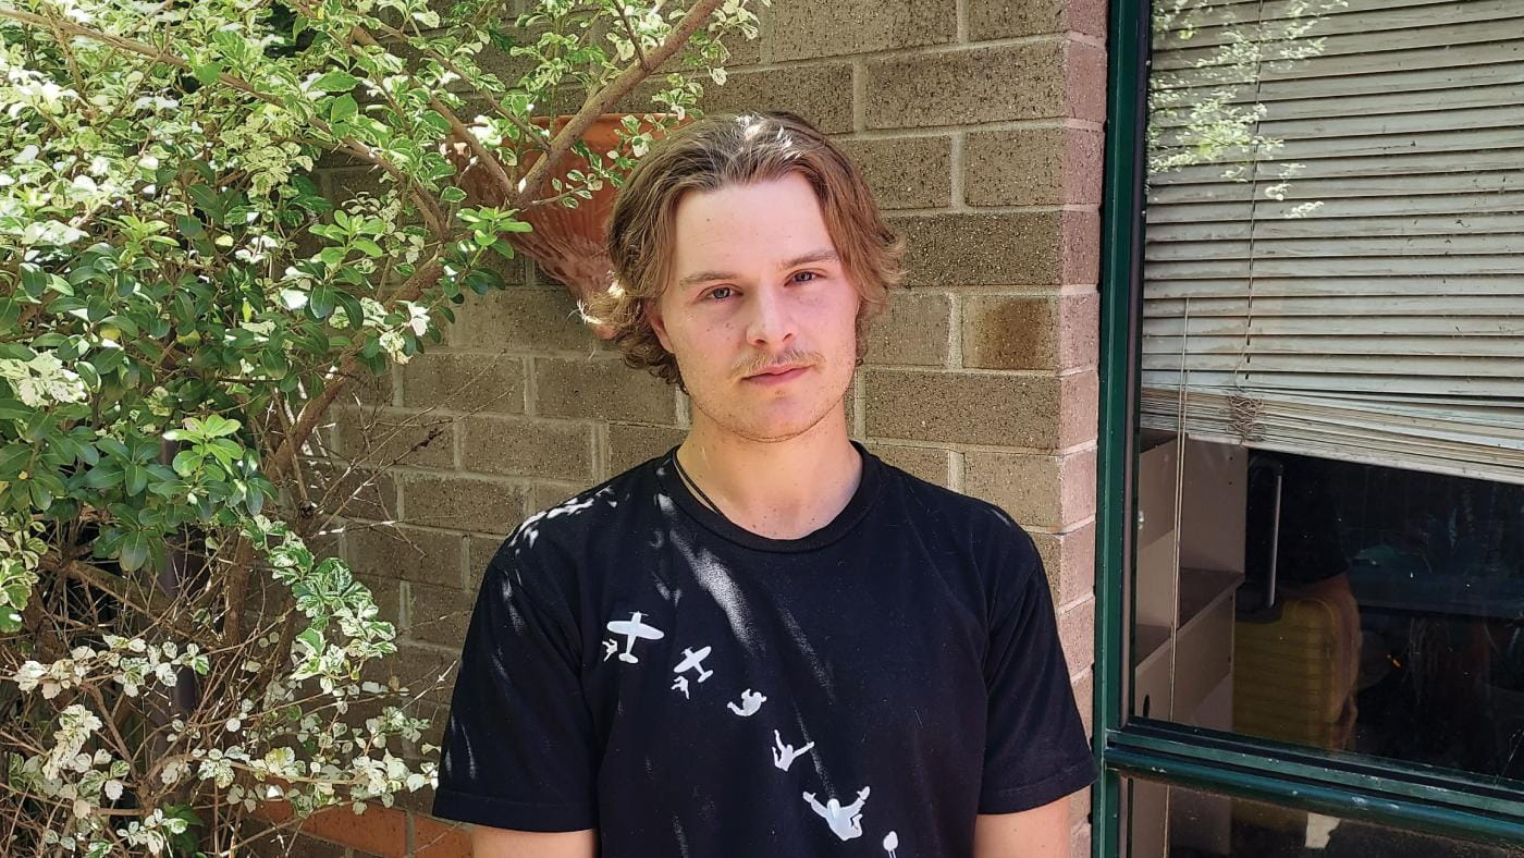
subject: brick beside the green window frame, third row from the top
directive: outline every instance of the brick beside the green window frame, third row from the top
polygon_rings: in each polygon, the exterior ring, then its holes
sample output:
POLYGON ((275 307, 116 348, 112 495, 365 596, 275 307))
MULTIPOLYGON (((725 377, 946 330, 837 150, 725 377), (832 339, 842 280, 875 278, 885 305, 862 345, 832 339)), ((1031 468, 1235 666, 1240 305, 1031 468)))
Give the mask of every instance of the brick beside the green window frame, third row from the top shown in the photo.
POLYGON ((1100 204, 1102 134, 1085 128, 972 131, 963 146, 969 206, 1100 204))

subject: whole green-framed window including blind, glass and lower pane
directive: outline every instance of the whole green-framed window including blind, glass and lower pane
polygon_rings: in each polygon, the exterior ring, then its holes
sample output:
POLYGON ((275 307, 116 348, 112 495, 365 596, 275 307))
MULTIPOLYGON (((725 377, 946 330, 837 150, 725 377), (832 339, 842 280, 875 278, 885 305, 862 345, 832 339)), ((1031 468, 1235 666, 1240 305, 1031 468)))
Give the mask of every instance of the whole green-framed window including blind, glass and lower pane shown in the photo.
POLYGON ((1140 14, 1113 3, 1096 852, 1524 846, 1524 6, 1140 14))

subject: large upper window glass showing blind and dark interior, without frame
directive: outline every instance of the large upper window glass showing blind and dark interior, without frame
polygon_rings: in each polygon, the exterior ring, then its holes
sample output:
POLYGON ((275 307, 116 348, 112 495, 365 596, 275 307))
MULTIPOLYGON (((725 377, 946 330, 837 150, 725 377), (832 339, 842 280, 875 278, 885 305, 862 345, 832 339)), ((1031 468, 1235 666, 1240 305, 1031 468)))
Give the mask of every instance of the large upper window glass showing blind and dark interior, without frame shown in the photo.
POLYGON ((1524 3, 1155 0, 1132 715, 1524 780, 1521 105, 1524 3))

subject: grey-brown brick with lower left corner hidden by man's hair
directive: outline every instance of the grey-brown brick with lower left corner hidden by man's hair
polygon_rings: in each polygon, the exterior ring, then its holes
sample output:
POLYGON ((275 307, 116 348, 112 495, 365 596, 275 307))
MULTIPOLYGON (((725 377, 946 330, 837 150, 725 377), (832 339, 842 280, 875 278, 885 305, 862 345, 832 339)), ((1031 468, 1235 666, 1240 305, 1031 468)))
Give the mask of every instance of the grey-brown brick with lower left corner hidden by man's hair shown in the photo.
POLYGON ((835 143, 863 169, 881 210, 952 204, 951 137, 840 139, 835 143))

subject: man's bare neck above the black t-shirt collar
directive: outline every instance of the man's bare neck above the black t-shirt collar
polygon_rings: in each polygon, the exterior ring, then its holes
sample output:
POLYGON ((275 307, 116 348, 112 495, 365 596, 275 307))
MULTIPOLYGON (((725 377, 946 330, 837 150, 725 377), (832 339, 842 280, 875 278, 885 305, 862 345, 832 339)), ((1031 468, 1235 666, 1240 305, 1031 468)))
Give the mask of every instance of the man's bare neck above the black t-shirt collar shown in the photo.
POLYGON ((797 539, 829 524, 863 477, 863 457, 840 410, 776 442, 724 431, 695 410, 678 462, 721 515, 773 539, 797 539))

